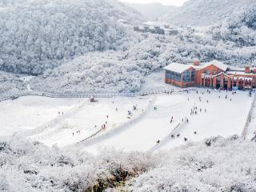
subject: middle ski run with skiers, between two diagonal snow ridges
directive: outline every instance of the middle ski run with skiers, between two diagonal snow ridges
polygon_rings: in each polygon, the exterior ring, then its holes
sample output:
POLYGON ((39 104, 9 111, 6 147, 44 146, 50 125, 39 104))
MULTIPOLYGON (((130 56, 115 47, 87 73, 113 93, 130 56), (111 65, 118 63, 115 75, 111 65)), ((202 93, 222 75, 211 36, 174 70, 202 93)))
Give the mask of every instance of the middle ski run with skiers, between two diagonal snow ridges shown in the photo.
POLYGON ((94 136, 101 137, 101 135, 115 133, 124 129, 123 127, 126 127, 127 123, 141 117, 147 106, 150 105, 150 100, 152 100, 152 96, 126 99, 101 98, 99 102, 88 103, 86 110, 67 118, 66 121, 70 125, 68 129, 63 129, 61 125, 58 125, 54 127, 52 132, 44 133, 44 135, 48 135, 47 137, 42 138, 40 134, 36 137, 48 146, 55 143, 58 146, 67 146, 81 142, 86 138, 94 139, 94 136), (138 110, 132 110, 134 104, 138 106, 138 110), (127 110, 132 110, 130 118, 127 118, 127 110), (106 118, 107 114, 108 118, 106 118), (101 130, 103 124, 106 124, 106 129, 101 130))

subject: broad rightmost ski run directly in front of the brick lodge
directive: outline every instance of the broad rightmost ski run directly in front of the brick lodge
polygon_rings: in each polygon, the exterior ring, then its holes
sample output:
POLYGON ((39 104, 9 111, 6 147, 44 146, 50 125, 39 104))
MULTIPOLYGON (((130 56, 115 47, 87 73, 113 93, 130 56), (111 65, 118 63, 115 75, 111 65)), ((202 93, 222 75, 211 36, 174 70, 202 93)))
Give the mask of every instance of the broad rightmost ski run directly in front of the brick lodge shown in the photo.
POLYGON ((206 90, 199 90, 198 94, 194 92, 158 95, 155 102, 158 110, 152 108, 139 122, 122 133, 111 135, 103 141, 94 139, 94 142, 84 142, 81 146, 93 154, 104 147, 146 151, 154 149, 156 142, 160 140, 156 150, 165 150, 186 144, 184 138, 188 139, 187 142, 196 142, 218 135, 240 135, 251 102, 252 98, 243 91, 238 91, 235 95, 226 91, 219 93, 217 90, 211 90, 210 94, 207 94, 206 90), (199 97, 202 98, 202 102, 199 101, 199 97), (194 106, 198 108, 198 114, 190 115, 190 110, 194 106), (174 117, 174 120, 170 123, 171 117, 174 117), (175 135, 175 138, 166 138, 178 123, 182 123, 182 119, 185 121, 186 118, 189 123, 182 125, 178 133, 180 137, 177 138, 175 135), (194 134, 195 131, 197 134, 194 134), (166 140, 164 145, 161 143, 162 139, 166 140))

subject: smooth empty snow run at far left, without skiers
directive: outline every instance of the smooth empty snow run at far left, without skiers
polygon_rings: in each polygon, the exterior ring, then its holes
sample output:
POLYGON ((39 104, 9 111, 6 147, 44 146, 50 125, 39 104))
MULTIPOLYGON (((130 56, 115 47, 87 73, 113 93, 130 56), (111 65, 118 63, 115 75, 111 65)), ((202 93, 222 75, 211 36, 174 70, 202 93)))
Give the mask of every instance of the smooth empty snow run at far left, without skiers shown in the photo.
POLYGON ((58 111, 70 110, 81 99, 21 97, 0 102, 0 135, 32 130, 58 117, 58 111))

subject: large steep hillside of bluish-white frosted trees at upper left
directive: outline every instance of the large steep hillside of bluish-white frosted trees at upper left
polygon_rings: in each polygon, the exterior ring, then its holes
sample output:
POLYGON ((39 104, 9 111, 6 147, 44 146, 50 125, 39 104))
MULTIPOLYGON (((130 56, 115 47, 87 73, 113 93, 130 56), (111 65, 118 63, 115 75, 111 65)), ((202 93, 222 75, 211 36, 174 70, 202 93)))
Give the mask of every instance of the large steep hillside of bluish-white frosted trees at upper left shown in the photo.
POLYGON ((118 23, 141 15, 111 0, 0 2, 0 70, 41 74, 90 51, 121 49, 133 34, 118 23))

